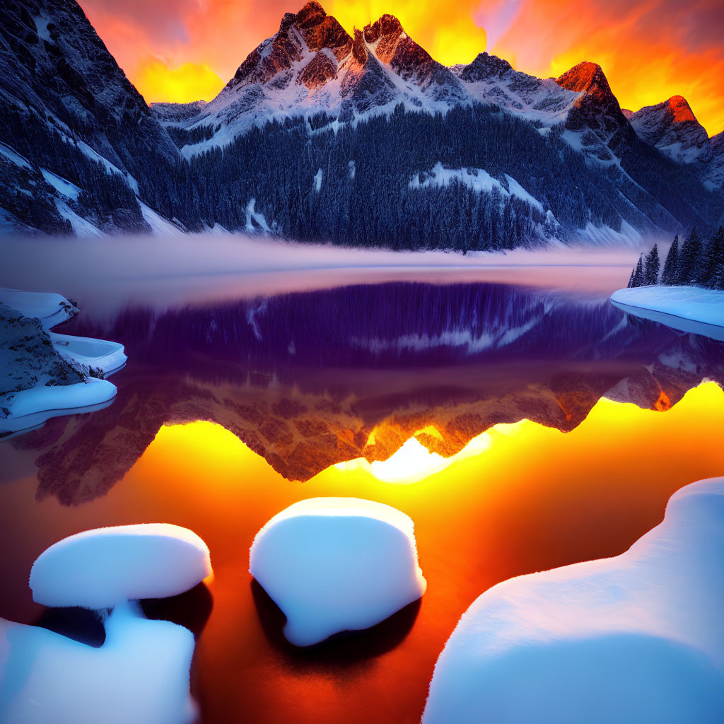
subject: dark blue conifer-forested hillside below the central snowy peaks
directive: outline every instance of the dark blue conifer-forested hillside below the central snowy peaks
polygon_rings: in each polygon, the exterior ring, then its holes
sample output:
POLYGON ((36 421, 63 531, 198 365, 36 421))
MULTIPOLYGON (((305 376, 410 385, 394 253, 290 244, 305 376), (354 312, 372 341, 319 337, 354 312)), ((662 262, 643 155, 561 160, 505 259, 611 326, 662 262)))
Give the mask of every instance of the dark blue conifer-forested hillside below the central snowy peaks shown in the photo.
POLYGON ((677 221, 707 224, 717 203, 655 151, 632 150, 628 174, 590 164, 561 138, 563 129, 542 135, 497 106, 432 115, 400 105, 356 125, 333 121, 271 121, 230 146, 210 146, 193 157, 183 198, 154 201, 188 224, 195 209, 184 203, 193 198, 203 223, 228 229, 266 224, 299 240, 463 250, 571 239, 587 224, 620 231, 627 222, 649 232, 677 221), (445 185, 431 173, 436 164, 456 172, 445 185), (476 173, 499 184, 476 190, 476 173), (529 198, 511 192, 508 177, 529 198), (655 195, 641 188, 647 177, 656 179, 655 195))

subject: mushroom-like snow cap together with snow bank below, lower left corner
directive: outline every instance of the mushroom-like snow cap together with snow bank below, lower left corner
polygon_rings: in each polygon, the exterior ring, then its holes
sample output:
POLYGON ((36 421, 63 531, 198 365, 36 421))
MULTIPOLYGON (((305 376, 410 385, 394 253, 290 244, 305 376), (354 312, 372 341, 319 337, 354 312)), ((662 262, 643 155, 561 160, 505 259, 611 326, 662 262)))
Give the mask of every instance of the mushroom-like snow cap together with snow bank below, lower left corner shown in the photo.
POLYGON ((101 609, 96 616, 105 639, 94 647, 0 618, 0 721, 193 722, 193 633, 149 620, 137 599, 181 594, 210 573, 203 540, 164 523, 85 531, 51 546, 30 573, 33 599, 101 609))

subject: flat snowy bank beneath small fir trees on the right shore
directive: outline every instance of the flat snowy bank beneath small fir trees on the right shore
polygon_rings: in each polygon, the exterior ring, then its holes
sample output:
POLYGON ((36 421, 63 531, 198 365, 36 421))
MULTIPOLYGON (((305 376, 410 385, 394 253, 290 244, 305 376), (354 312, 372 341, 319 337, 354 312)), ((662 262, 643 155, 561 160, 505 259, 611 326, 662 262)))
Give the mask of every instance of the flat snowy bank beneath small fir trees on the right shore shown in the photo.
POLYGON ((611 301, 630 314, 683 332, 724 341, 724 292, 699 287, 635 287, 613 292, 611 301))

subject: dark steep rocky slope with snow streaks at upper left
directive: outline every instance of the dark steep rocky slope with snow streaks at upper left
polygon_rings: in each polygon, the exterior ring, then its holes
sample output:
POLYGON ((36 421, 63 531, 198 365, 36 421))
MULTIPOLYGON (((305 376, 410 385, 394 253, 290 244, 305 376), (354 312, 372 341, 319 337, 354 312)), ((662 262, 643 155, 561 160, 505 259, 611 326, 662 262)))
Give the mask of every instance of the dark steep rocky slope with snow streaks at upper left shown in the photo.
POLYGON ((150 230, 135 195, 180 154, 75 1, 0 6, 0 104, 8 224, 150 230))

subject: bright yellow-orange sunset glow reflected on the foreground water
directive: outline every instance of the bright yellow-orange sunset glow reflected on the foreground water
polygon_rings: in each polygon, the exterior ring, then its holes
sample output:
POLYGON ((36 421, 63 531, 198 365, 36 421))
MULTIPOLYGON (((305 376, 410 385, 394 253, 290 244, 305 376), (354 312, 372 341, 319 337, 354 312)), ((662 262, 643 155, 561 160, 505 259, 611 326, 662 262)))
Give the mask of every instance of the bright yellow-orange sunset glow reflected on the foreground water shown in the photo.
MULTIPOLYGON (((417 722, 437 655, 479 594, 513 576, 626 550, 660 522, 676 489, 724 471, 723 429, 724 392, 704 382, 667 411, 602 399, 571 432, 497 425, 450 459, 413 437, 387 468, 357 460, 300 483, 220 425, 162 426, 125 477, 92 502, 37 502, 28 478, 0 487, 0 540, 14 548, 3 563, 2 613, 35 620, 27 572, 63 536, 176 523, 209 544, 214 566, 206 581, 213 610, 192 671, 204 721, 311 724, 324 712, 351 724, 417 722), (252 585, 248 550, 269 518, 318 496, 376 500, 410 515, 429 586, 387 628, 305 651, 281 639, 279 612, 252 585)), ((418 432, 425 435, 434 431, 418 432)))

